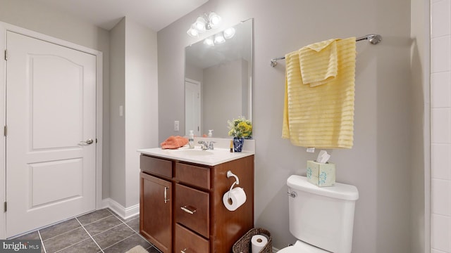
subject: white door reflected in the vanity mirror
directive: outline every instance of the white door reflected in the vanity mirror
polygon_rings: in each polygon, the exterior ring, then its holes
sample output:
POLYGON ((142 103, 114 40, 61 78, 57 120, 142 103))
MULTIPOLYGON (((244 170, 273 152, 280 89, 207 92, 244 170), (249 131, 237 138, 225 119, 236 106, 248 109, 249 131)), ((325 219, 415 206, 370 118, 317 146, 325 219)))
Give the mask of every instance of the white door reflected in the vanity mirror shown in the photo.
POLYGON ((185 81, 185 134, 190 130, 195 136, 201 136, 200 129, 200 82, 186 79, 185 81))

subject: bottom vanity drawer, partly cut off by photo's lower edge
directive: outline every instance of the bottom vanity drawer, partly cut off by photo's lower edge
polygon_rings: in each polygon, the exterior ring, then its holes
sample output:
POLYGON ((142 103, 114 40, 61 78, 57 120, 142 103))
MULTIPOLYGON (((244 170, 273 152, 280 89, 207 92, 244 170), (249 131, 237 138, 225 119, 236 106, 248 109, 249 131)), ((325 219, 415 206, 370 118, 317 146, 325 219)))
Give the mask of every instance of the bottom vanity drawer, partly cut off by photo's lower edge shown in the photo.
POLYGON ((192 231, 175 224, 175 251, 185 253, 205 253, 210 252, 209 241, 196 235, 192 231))

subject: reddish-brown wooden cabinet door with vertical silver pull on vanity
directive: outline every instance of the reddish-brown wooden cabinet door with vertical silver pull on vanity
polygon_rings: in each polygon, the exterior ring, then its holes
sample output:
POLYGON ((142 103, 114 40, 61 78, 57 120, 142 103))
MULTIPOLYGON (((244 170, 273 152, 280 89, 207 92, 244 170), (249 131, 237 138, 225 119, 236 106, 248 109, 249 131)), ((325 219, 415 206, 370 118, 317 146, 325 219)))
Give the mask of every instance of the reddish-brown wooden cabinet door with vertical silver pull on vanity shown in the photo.
POLYGON ((163 253, 171 252, 172 183, 140 173, 140 233, 163 253))

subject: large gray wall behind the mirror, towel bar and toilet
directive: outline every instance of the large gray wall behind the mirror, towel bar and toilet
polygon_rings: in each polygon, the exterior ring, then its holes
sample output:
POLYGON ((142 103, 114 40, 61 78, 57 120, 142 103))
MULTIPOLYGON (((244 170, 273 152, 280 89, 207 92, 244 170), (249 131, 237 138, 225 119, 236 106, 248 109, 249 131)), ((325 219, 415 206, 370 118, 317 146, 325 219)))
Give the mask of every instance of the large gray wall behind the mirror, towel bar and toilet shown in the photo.
POLYGON ((377 46, 357 44, 354 147, 329 151, 337 180, 359 189, 353 252, 411 252, 409 124, 417 108, 410 86, 410 1, 210 0, 158 32, 164 56, 159 57, 160 141, 179 134, 172 131, 174 120, 184 129, 183 55, 196 41, 186 30, 208 11, 222 16, 220 29, 254 18, 255 226, 271 231, 279 248, 295 241, 288 228, 286 179, 305 174, 306 161, 318 151, 306 153, 280 138, 285 63, 272 68, 269 60, 316 41, 382 34, 377 46))

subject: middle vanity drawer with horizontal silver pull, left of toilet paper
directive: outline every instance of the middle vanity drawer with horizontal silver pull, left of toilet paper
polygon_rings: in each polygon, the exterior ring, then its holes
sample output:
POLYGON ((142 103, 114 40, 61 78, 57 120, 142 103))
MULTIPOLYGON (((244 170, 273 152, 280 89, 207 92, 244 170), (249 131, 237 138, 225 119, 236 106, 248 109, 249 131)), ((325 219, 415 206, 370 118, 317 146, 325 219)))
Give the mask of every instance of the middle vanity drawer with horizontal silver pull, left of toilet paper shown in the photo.
POLYGON ((175 184, 175 221, 209 238, 209 193, 175 184))

